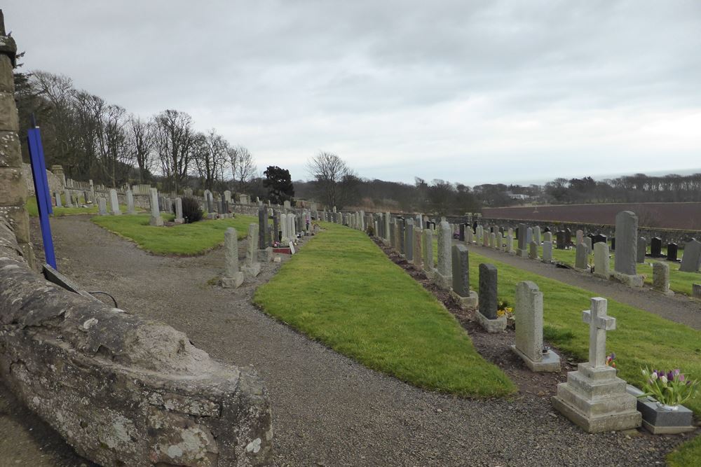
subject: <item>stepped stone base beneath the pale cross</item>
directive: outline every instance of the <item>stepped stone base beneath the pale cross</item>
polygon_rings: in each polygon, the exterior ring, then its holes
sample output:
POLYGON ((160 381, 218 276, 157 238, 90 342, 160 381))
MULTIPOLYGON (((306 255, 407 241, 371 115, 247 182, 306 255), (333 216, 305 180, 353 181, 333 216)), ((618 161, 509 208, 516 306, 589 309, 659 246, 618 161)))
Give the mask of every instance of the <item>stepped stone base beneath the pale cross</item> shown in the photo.
POLYGON ((625 386, 615 368, 580 363, 577 371, 567 373, 566 383, 557 385, 552 405, 587 433, 637 428, 642 416, 625 386))

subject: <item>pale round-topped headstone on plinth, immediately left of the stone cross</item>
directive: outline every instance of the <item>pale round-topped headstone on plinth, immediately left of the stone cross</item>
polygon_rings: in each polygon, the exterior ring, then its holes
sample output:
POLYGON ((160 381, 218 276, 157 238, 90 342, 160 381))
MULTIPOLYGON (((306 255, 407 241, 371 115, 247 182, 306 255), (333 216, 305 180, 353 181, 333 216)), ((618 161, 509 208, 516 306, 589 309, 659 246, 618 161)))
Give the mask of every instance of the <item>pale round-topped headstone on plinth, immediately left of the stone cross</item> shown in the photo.
POLYGON ((516 286, 516 344, 512 351, 531 371, 559 372, 560 357, 543 347, 543 292, 531 281, 516 286))

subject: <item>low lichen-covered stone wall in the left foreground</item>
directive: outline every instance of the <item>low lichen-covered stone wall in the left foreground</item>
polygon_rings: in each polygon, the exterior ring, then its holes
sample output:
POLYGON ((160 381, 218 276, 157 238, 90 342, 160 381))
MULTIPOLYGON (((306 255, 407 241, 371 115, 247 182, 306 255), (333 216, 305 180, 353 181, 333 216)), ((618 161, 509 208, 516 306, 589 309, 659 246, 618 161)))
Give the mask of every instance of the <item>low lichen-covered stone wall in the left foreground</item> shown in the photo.
POLYGON ((0 374, 76 452, 109 466, 263 466, 266 389, 184 333, 34 274, 0 222, 0 374))

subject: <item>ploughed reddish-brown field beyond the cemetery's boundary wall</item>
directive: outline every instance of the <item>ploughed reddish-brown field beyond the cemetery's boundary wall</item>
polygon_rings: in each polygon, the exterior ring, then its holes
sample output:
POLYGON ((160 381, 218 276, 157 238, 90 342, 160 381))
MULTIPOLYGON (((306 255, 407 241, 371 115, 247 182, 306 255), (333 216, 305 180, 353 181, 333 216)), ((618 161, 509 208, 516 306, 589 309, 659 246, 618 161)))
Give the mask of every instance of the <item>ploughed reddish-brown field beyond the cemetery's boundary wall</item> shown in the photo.
POLYGON ((483 208, 488 219, 614 225, 620 211, 638 215, 640 227, 701 230, 701 202, 553 204, 483 208))

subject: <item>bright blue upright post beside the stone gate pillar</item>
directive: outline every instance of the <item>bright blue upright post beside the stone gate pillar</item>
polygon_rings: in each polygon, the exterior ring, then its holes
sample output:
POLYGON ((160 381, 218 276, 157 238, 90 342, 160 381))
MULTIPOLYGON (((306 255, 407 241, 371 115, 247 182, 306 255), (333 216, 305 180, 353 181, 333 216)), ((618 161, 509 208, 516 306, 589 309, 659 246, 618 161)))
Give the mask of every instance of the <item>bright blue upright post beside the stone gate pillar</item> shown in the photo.
POLYGON ((53 212, 51 208, 51 193, 49 192, 48 180, 46 179, 46 162, 44 162, 39 127, 27 130, 27 147, 29 148, 29 162, 32 164, 32 179, 34 179, 36 207, 39 209, 39 225, 41 226, 44 256, 46 256, 46 263, 57 270, 56 255, 53 250, 53 237, 51 237, 51 225, 48 220, 49 214, 53 212))

